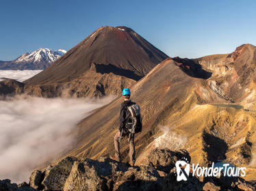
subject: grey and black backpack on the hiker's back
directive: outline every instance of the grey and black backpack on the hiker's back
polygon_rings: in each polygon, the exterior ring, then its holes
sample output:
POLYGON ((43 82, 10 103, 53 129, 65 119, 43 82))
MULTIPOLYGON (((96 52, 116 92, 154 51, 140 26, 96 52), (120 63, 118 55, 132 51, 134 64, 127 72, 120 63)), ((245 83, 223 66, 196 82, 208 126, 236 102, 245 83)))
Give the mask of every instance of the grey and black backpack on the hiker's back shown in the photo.
POLYGON ((125 127, 132 134, 136 134, 142 131, 142 119, 140 116, 140 106, 132 104, 127 106, 127 112, 125 117, 125 127))

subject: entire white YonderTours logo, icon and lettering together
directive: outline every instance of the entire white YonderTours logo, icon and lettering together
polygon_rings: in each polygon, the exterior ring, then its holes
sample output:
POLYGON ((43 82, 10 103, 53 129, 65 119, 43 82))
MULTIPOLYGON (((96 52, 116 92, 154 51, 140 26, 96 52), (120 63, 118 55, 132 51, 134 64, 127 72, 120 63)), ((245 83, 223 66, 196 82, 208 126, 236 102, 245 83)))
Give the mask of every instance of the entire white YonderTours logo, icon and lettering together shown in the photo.
MULTIPOLYGON (((235 167, 229 163, 218 162, 214 164, 212 162, 212 166, 201 167, 199 164, 191 164, 192 165, 192 173, 191 175, 197 177, 218 177, 223 175, 224 177, 245 177, 246 175, 246 167, 235 167)), ((188 180, 190 175, 190 163, 186 158, 181 158, 175 163, 176 173, 177 173, 177 181, 188 180)))

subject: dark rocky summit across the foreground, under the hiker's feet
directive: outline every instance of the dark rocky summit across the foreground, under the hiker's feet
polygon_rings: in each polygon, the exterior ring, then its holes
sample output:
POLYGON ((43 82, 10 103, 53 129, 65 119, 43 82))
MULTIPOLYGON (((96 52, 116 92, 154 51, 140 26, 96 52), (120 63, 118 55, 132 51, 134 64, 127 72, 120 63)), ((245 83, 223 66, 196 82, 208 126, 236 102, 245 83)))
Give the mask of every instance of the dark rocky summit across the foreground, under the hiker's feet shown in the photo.
POLYGON ((29 184, 2 180, 0 190, 255 190, 253 183, 242 178, 192 177, 190 173, 187 181, 177 181, 175 163, 182 158, 190 158, 188 151, 158 148, 140 166, 105 157, 98 160, 67 157, 43 172, 35 170, 29 184))

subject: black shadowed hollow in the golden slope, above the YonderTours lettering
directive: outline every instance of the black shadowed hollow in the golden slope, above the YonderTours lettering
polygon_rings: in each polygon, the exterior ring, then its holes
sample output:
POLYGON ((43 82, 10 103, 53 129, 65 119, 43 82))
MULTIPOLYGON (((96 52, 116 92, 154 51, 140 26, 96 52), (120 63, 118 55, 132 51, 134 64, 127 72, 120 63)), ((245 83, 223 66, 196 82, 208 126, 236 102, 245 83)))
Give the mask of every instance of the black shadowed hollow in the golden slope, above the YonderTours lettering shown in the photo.
POLYGON ((207 153, 207 160, 218 162, 226 159, 225 153, 228 146, 224 140, 204 131, 203 143, 204 151, 207 153))

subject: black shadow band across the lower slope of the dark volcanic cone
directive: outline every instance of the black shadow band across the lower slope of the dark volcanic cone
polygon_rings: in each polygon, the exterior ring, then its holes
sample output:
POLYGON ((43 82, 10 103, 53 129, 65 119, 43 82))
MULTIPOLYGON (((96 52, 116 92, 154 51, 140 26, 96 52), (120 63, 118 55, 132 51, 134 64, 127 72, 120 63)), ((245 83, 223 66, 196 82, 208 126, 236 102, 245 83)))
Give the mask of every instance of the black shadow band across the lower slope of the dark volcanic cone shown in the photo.
POLYGON ((118 76, 125 76, 127 78, 133 79, 133 80, 140 80, 143 76, 139 76, 137 74, 135 74, 133 71, 131 70, 126 70, 126 69, 122 69, 122 68, 118 68, 116 67, 116 65, 113 65, 111 63, 105 65, 105 64, 98 64, 98 63, 94 63, 95 64, 95 68, 96 71, 101 73, 101 74, 110 74, 110 72, 112 72, 113 74, 116 74, 118 76))

